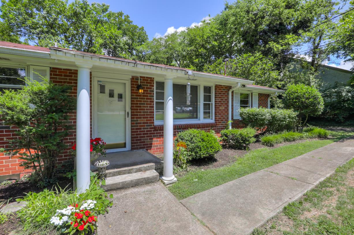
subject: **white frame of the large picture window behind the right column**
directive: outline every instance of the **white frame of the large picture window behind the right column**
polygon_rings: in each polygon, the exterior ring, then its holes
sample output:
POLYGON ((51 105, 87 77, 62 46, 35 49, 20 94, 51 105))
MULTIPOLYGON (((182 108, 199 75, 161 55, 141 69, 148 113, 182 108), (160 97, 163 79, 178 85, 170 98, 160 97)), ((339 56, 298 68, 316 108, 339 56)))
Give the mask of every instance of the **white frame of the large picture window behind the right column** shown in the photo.
MULTIPOLYGON (((155 125, 163 125, 164 120, 156 120, 156 101, 163 101, 163 100, 156 100, 156 82, 165 82, 164 80, 160 79, 155 79, 154 81, 154 123, 155 125)), ((173 82, 173 84, 184 84, 186 85, 187 82, 173 82)), ((198 123, 210 123, 210 122, 215 122, 215 85, 214 84, 207 84, 207 83, 191 83, 190 85, 192 86, 198 86, 198 92, 199 92, 199 119, 173 119, 173 124, 198 124, 198 123), (212 104, 212 116, 211 119, 204 119, 204 86, 210 86, 211 87, 211 104, 212 104)), ((165 91, 164 91, 165 92, 165 91)))

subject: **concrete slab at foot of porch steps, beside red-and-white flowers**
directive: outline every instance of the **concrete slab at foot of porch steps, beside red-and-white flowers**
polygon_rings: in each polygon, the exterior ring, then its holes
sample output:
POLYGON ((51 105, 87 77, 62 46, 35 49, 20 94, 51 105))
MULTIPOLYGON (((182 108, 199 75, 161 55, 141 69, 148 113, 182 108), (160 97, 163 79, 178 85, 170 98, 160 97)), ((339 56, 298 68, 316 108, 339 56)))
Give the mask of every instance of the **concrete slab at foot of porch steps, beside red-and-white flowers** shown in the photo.
POLYGON ((113 207, 98 218, 98 235, 212 235, 161 182, 112 191, 113 207))

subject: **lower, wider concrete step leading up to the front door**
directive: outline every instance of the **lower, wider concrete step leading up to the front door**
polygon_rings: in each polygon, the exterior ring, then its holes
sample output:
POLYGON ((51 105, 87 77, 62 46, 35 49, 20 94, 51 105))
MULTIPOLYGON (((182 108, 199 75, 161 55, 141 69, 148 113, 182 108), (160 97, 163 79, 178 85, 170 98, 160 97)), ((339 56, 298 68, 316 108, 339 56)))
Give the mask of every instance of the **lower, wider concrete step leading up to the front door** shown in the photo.
POLYGON ((149 184, 159 180, 159 173, 155 170, 140 171, 130 174, 108 177, 103 189, 106 191, 130 188, 138 185, 149 184))

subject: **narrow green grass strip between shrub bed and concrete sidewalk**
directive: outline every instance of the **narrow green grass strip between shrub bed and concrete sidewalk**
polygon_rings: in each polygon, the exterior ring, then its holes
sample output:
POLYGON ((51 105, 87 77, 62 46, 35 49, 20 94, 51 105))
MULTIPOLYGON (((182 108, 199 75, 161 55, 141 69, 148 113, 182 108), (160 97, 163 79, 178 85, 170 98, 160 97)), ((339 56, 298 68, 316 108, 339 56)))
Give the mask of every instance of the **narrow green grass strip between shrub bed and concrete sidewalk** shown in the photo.
POLYGON ((314 149, 353 135, 354 132, 331 132, 332 139, 307 141, 285 145, 279 148, 252 150, 230 166, 210 170, 190 171, 168 187, 170 192, 181 200, 207 189, 246 176, 280 162, 292 159, 314 149))

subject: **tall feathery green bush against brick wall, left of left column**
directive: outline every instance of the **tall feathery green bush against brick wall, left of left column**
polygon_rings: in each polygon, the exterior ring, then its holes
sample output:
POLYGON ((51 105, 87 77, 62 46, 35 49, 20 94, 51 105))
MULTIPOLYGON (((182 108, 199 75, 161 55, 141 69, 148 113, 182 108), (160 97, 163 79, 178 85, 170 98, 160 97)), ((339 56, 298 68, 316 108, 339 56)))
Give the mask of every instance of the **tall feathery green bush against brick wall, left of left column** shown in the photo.
POLYGON ((25 79, 21 90, 0 94, 0 114, 6 125, 17 126, 18 138, 10 140, 7 151, 20 155, 22 166, 32 169, 38 182, 53 183, 55 162, 66 145, 69 113, 76 100, 72 87, 25 79), (24 151, 23 151, 24 150, 24 151))

